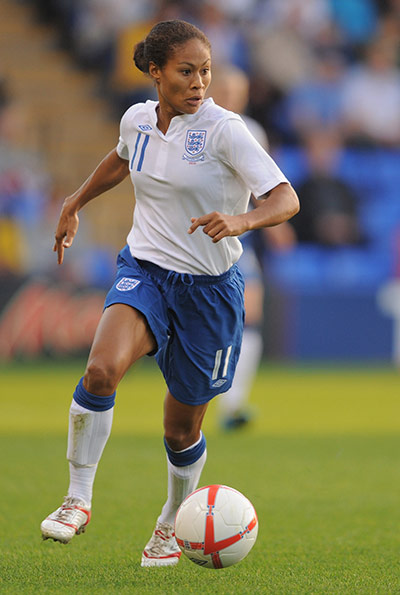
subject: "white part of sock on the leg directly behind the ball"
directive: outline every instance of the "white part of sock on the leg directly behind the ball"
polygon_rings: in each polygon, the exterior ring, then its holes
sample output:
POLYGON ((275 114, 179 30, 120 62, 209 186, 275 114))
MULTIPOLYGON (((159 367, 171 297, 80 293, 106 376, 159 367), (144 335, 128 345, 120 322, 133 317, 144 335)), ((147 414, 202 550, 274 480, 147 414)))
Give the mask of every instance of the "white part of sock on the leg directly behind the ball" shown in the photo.
POLYGON ((168 499, 163 506, 158 521, 160 523, 175 522, 176 511, 183 500, 191 494, 199 483, 200 475, 207 459, 207 450, 195 463, 185 467, 177 467, 168 461, 168 499))

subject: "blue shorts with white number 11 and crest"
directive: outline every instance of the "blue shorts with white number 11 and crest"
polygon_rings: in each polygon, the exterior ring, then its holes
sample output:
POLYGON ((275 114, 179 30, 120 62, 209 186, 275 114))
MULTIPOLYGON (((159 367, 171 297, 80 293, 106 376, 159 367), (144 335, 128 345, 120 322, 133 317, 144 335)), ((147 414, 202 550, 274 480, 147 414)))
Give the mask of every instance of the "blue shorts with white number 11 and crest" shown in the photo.
POLYGON ((173 396, 207 403, 232 384, 242 343, 244 282, 236 265, 218 276, 176 273, 118 255, 105 307, 128 304, 147 319, 155 357, 173 396))

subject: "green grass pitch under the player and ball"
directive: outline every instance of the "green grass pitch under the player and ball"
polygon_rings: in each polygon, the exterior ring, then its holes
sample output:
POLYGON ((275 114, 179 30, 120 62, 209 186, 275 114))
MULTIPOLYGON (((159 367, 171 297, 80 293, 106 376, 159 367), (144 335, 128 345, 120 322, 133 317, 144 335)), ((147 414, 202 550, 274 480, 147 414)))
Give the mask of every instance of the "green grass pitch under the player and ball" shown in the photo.
POLYGON ((143 569, 166 496, 164 383, 151 362, 121 383, 93 520, 67 545, 41 520, 67 488, 66 429, 79 364, 2 367, 0 592, 400 593, 400 391, 395 370, 265 366, 238 433, 207 413, 201 484, 244 492, 258 540, 237 566, 143 569))

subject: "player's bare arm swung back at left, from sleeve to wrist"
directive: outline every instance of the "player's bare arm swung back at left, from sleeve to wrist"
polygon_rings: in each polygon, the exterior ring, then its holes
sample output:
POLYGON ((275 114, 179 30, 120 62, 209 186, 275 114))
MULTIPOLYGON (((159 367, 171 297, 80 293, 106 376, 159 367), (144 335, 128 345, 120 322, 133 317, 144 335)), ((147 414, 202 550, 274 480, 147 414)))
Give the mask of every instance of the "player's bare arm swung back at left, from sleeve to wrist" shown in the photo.
POLYGON ((76 212, 79 211, 93 198, 117 186, 128 174, 128 161, 121 159, 113 149, 104 157, 82 186, 66 199, 68 208, 76 212))

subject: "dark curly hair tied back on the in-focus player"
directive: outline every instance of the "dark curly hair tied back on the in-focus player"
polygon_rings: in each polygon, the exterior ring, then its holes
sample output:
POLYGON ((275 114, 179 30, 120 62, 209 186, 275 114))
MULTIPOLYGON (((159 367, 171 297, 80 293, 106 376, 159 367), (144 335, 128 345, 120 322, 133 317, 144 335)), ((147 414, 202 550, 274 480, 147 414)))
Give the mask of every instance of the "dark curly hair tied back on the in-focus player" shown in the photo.
POLYGON ((148 74, 150 62, 163 68, 175 49, 190 39, 199 39, 211 49, 208 38, 195 25, 180 20, 161 21, 135 45, 133 60, 139 70, 148 74))

